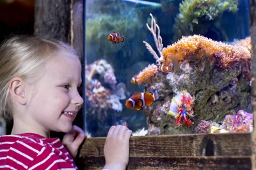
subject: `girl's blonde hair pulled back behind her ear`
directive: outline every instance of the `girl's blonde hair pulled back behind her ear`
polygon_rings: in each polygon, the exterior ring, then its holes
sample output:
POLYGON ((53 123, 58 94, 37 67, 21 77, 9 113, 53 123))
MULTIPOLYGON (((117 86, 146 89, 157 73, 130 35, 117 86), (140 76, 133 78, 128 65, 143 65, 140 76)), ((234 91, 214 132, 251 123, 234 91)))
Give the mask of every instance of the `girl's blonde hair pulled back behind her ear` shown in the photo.
POLYGON ((52 57, 61 54, 79 59, 71 46, 46 37, 13 36, 0 47, 0 117, 12 119, 10 80, 19 76, 25 81, 36 81, 52 57))

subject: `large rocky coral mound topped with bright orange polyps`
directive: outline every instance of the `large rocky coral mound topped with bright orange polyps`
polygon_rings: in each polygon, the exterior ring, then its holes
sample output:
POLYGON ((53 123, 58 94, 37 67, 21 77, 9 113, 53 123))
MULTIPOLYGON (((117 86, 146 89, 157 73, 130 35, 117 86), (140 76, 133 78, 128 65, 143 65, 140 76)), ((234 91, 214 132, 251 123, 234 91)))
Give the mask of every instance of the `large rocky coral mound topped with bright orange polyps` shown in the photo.
POLYGON ((157 62, 166 65, 172 62, 173 70, 156 71, 150 81, 145 81, 144 90, 159 93, 159 100, 145 108, 148 134, 192 133, 201 120, 215 122, 211 124, 212 132, 226 132, 218 125, 225 115, 250 110, 250 50, 247 48, 225 45, 203 36, 188 36, 163 48, 157 62), (191 127, 177 128, 175 117, 170 117, 168 111, 172 97, 183 90, 194 96, 196 116, 191 127))

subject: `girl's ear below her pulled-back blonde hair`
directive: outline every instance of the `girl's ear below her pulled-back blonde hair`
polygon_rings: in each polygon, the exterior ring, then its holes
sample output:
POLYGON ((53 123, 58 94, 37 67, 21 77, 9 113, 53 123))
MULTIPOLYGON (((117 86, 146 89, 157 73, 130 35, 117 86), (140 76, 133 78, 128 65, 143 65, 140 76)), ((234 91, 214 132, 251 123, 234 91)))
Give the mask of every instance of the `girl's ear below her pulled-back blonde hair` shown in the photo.
POLYGON ((9 84, 10 94, 19 104, 26 104, 25 82, 20 77, 13 77, 9 84))

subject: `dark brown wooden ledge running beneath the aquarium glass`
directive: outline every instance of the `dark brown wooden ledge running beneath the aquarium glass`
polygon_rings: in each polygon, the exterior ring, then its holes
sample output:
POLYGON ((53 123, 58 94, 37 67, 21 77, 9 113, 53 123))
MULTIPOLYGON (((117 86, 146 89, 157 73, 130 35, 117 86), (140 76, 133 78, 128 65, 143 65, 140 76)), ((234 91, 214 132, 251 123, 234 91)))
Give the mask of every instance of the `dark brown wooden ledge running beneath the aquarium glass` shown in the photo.
MULTIPOLYGON (((104 166, 106 138, 88 138, 79 169, 104 166)), ((251 169, 251 133, 132 136, 127 169, 251 169)))

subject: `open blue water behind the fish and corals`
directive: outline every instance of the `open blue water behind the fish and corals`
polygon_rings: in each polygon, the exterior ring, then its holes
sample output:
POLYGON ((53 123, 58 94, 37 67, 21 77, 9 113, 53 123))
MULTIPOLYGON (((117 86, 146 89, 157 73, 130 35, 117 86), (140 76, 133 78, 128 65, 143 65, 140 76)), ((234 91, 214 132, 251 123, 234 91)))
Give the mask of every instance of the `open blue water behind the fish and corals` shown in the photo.
MULTIPOLYGON (((125 107, 125 101, 134 91, 143 92, 143 85, 131 84, 134 74, 140 72, 148 64, 156 60, 148 52, 143 41, 147 41, 157 52, 154 38, 148 31, 150 13, 156 18, 161 29, 163 45, 172 45, 181 37, 175 34, 173 25, 180 15, 179 5, 183 1, 122 1, 122 0, 88 0, 86 1, 86 60, 92 64, 95 60, 106 60, 115 70, 116 85, 125 83, 125 99, 120 99, 122 111, 104 110, 101 115, 86 112, 87 129, 92 136, 106 136, 109 127, 118 120, 125 120, 132 131, 145 127, 147 129, 147 113, 125 107), (108 41, 111 32, 120 32, 125 37, 123 43, 113 44, 108 41), (176 36, 176 38, 175 38, 176 36)), ((250 36, 249 11, 250 1, 239 1, 238 11, 223 11, 215 20, 200 18, 194 31, 186 31, 186 35, 201 34, 216 41, 232 42, 250 36), (207 27, 204 29, 204 27, 207 27), (202 29, 202 30, 201 30, 202 29), (200 32, 202 31, 202 32, 200 32)), ((177 30, 176 30, 177 31, 177 30)), ((178 30, 179 31, 179 30, 178 30)), ((102 76, 96 75, 104 87, 102 76)), ((90 103, 88 106, 90 108, 90 103)))

